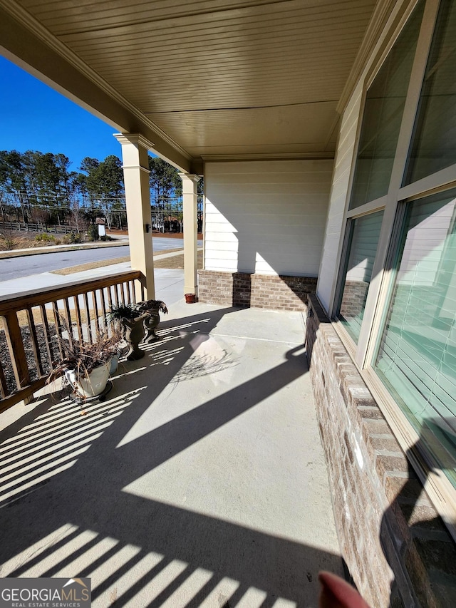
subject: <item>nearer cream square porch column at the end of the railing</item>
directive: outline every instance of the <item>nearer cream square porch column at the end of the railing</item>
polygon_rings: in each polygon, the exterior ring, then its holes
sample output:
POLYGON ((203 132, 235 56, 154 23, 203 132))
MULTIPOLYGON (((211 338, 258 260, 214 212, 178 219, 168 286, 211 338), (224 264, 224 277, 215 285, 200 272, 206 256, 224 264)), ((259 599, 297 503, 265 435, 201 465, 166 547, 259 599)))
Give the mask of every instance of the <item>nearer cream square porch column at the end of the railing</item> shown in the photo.
MULTIPOLYGON (((153 144, 139 133, 115 133, 114 137, 122 145, 131 267, 141 272, 140 283, 145 288, 145 299, 154 299, 150 171, 147 158, 147 151, 153 148, 153 144)), ((141 300, 140 286, 137 285, 135 289, 137 300, 141 300)))

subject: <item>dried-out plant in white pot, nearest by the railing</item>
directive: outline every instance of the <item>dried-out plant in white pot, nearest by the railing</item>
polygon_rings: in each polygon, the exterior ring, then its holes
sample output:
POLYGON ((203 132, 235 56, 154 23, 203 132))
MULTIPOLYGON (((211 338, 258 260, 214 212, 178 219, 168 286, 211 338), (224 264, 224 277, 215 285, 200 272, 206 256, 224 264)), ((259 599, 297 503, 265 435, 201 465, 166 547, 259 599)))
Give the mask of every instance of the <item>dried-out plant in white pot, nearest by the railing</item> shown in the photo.
POLYGON ((65 338, 59 339, 62 359, 57 364, 54 362, 48 382, 63 376, 78 400, 100 395, 113 367, 117 367, 120 334, 99 331, 87 342, 74 339, 71 330, 64 335, 65 338))

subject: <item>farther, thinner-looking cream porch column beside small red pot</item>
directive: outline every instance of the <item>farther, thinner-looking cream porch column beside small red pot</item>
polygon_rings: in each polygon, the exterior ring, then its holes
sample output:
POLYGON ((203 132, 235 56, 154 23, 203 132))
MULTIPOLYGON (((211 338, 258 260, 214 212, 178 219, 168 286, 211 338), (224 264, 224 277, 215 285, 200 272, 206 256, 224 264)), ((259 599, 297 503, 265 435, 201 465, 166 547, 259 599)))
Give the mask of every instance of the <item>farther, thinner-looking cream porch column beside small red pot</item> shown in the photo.
POLYGON ((199 175, 180 173, 184 219, 184 294, 198 295, 198 207, 199 175))

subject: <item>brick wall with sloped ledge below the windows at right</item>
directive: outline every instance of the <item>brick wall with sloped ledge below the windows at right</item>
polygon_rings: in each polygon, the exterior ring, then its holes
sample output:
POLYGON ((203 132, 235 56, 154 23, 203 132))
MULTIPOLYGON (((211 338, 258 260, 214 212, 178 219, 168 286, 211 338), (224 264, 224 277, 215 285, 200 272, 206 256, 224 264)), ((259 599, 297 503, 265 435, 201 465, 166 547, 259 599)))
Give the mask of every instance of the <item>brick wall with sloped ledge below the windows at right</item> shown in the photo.
POLYGON ((372 608, 456 606, 456 545, 315 295, 306 345, 343 558, 372 608))

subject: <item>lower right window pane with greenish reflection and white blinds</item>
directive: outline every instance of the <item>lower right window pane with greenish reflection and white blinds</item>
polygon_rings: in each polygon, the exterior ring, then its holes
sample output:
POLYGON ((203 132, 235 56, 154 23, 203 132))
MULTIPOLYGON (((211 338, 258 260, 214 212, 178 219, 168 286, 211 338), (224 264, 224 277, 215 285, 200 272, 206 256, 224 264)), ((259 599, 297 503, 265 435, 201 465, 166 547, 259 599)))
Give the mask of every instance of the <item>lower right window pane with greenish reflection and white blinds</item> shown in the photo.
POLYGON ((374 369, 456 486, 456 191, 408 203, 374 369))

